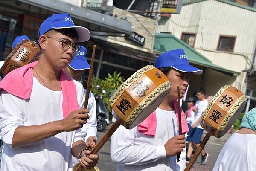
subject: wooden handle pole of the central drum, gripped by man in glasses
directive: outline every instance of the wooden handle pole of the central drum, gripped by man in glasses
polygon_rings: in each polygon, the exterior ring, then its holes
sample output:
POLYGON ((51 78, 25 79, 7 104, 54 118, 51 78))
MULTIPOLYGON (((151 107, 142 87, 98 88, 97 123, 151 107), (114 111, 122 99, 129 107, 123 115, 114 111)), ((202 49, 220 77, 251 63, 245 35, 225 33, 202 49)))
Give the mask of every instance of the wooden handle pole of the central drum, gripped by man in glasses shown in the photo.
MULTIPOLYGON (((108 138, 111 137, 111 135, 116 131, 116 129, 120 125, 121 124, 118 121, 114 122, 113 125, 108 129, 108 131, 102 136, 99 142, 95 145, 90 154, 97 154, 98 151, 102 148, 102 146, 107 142, 108 138)), ((84 167, 81 164, 79 164, 75 171, 82 171, 83 168, 84 167)))

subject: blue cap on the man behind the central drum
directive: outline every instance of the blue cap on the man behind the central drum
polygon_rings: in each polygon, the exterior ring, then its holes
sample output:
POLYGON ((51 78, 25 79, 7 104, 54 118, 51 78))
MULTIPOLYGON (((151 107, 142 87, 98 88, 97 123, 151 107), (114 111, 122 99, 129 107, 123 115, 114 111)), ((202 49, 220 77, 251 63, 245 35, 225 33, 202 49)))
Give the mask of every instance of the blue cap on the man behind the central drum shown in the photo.
POLYGON ((197 75, 203 72, 202 70, 189 65, 184 49, 171 50, 159 55, 154 66, 158 69, 172 67, 181 72, 188 72, 197 75))

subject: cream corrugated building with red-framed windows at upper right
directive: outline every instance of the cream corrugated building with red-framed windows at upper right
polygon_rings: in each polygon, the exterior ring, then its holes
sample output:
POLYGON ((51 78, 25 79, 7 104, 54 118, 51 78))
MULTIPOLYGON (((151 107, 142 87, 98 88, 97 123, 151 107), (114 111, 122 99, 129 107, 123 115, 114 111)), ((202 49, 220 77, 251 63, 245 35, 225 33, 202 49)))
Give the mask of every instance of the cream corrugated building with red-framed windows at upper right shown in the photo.
MULTIPOLYGON (((175 35, 213 64, 238 72, 235 77, 220 77, 215 71, 207 72, 204 87, 208 91, 215 91, 216 84, 229 83, 244 93, 252 92, 252 95, 256 90, 256 84, 252 84, 255 77, 251 73, 255 58, 255 28, 254 8, 226 0, 196 0, 183 3, 179 15, 162 17, 157 32, 175 35)), ((250 93, 247 96, 249 99, 253 97, 250 93)), ((253 99, 248 105, 247 110, 256 107, 253 99)))

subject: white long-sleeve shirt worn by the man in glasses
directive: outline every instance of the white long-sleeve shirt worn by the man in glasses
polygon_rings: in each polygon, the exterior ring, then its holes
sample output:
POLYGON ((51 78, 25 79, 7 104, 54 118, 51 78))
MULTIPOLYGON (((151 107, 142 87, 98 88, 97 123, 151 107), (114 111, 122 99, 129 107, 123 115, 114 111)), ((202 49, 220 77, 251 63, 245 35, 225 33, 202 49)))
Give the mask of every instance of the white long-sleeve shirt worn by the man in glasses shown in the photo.
MULTIPOLYGON (((84 88, 76 85, 79 108, 84 104, 84 88)), ((12 148, 18 126, 40 125, 63 119, 62 91, 52 91, 33 79, 30 99, 22 99, 1 90, 0 139, 3 140, 1 171, 72 171, 71 147, 83 140, 85 129, 61 132, 30 145, 12 148)))

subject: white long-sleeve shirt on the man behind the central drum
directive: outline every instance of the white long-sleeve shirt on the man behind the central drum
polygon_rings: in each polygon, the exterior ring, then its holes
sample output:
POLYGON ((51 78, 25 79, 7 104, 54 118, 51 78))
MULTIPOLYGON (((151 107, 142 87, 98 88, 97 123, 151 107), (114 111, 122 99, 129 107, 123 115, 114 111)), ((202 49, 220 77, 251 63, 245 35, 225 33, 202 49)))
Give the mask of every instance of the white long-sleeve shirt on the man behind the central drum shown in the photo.
POLYGON ((178 135, 176 114, 157 108, 155 136, 148 136, 122 125, 111 137, 111 159, 117 171, 183 171, 186 167, 186 148, 180 155, 166 157, 164 144, 178 135))

